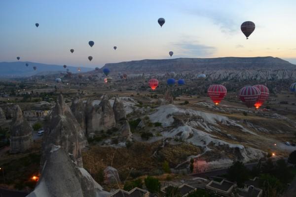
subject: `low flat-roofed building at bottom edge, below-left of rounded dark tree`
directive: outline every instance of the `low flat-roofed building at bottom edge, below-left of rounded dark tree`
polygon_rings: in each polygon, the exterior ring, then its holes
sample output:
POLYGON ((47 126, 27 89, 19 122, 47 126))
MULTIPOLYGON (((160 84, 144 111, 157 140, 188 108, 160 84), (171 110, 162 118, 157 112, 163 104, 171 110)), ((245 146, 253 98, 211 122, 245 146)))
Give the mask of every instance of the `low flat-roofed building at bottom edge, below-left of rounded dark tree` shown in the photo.
POLYGON ((221 182, 211 181, 206 185, 206 190, 214 192, 223 197, 231 197, 233 190, 236 188, 236 183, 232 183, 223 179, 221 182))

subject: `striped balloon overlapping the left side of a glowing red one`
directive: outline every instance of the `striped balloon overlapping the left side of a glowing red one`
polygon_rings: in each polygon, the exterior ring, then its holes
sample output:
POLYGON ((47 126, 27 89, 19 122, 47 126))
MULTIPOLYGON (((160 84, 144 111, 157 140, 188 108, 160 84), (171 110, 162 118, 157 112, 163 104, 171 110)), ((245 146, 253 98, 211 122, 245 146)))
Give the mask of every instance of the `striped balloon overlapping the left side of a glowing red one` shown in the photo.
POLYGON ((246 86, 240 89, 238 96, 241 101, 247 105, 247 107, 251 108, 258 100, 260 90, 254 86, 246 86))

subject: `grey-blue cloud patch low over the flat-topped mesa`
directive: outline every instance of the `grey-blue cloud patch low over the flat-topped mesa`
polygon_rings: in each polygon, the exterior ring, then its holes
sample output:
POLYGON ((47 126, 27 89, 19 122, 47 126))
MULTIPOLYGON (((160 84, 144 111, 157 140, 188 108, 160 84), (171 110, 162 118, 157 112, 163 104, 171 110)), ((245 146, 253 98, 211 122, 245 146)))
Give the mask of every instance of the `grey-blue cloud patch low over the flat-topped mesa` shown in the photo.
POLYGON ((208 57, 216 52, 216 47, 199 44, 197 41, 181 41, 172 43, 174 47, 179 49, 179 54, 183 57, 208 57))

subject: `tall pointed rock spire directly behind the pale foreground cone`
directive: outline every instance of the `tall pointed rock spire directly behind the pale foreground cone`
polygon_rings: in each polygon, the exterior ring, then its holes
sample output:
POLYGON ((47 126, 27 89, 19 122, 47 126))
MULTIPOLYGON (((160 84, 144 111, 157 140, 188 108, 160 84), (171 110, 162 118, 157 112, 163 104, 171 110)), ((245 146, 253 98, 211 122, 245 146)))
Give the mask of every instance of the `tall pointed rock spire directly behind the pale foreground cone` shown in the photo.
POLYGON ((41 165, 46 160, 44 156, 55 145, 62 147, 70 155, 72 161, 77 166, 82 167, 80 149, 87 145, 87 140, 70 107, 64 102, 62 95, 58 97, 51 115, 51 120, 47 123, 43 136, 41 165))

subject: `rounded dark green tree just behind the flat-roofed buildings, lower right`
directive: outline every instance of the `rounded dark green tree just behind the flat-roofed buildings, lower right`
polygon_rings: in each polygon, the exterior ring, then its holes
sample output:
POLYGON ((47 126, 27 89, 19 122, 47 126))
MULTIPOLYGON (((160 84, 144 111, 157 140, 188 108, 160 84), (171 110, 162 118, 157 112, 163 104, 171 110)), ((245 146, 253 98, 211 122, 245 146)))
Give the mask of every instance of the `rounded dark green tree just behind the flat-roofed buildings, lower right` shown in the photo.
POLYGON ((228 168, 227 175, 230 181, 237 182, 242 187, 249 179, 249 170, 242 162, 235 162, 228 168))

